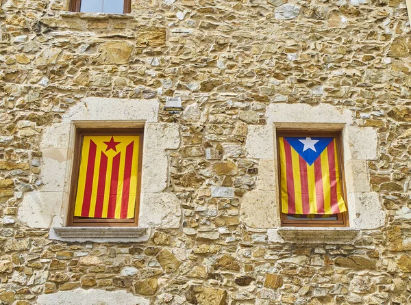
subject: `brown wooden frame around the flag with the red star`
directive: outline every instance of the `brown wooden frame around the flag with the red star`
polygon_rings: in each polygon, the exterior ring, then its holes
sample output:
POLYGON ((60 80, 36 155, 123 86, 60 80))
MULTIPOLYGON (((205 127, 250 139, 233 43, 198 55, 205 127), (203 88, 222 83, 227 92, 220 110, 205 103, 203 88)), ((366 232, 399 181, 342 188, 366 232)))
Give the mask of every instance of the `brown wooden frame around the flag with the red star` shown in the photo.
POLYGON ((71 187, 69 197, 69 213, 67 215, 67 226, 138 226, 138 215, 140 212, 140 194, 141 194, 141 169, 142 169, 142 145, 143 145, 142 128, 123 128, 123 129, 77 129, 75 131, 75 146, 73 171, 71 175, 71 187), (83 146, 83 137, 86 135, 138 135, 140 138, 138 144, 138 171, 137 171, 137 195, 136 207, 134 209, 134 218, 127 220, 113 220, 104 218, 86 218, 75 217, 74 206, 77 194, 77 184, 79 178, 80 158, 83 146))

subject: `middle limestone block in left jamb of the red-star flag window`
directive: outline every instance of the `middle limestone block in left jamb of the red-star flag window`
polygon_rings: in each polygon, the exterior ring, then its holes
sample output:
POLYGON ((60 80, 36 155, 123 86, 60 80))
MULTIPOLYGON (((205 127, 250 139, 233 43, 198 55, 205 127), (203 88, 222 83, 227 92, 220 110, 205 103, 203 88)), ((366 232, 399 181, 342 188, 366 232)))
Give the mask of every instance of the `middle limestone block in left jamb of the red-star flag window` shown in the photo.
POLYGON ((64 191, 64 178, 67 165, 67 150, 64 148, 45 148, 42 150, 41 180, 42 191, 64 191))

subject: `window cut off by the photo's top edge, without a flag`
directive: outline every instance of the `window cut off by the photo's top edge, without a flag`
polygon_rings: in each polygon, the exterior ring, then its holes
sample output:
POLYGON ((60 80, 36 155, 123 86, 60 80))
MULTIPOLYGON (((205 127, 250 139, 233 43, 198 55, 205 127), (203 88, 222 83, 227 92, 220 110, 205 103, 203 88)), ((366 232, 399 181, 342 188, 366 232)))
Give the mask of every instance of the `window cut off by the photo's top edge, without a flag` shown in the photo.
POLYGON ((132 11, 131 0, 71 0, 72 12, 125 14, 132 11))

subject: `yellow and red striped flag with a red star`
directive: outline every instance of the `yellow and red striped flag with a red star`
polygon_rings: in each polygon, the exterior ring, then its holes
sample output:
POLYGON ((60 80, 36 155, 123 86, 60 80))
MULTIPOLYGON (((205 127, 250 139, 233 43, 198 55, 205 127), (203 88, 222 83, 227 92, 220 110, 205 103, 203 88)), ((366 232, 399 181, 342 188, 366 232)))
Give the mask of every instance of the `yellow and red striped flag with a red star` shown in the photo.
POLYGON ((138 178, 138 135, 84 136, 74 215, 134 217, 138 178))

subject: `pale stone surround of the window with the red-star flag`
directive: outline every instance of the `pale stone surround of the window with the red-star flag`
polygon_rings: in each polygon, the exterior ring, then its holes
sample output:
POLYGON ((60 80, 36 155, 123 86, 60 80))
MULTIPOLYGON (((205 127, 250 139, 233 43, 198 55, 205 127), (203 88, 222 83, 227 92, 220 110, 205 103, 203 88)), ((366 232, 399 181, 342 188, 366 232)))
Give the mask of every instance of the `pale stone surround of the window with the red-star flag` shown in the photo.
POLYGON ((157 100, 84 98, 62 122, 42 134, 42 165, 38 191, 27 192, 18 219, 32 228, 66 226, 76 128, 143 127, 142 181, 138 227, 179 228, 179 199, 166 191, 169 159, 166 150, 179 148, 179 126, 158 122, 157 100))

